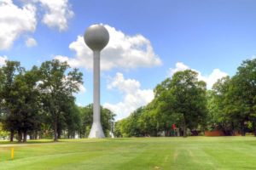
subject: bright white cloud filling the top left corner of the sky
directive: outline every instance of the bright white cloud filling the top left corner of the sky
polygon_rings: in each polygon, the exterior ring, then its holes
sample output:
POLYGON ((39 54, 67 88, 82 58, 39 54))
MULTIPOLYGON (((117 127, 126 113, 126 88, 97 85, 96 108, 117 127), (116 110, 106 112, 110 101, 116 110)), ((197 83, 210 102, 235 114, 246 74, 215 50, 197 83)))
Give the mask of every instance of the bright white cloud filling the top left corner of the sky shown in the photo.
POLYGON ((36 10, 30 3, 19 8, 12 0, 0 0, 0 50, 11 48, 21 34, 35 31, 36 10))

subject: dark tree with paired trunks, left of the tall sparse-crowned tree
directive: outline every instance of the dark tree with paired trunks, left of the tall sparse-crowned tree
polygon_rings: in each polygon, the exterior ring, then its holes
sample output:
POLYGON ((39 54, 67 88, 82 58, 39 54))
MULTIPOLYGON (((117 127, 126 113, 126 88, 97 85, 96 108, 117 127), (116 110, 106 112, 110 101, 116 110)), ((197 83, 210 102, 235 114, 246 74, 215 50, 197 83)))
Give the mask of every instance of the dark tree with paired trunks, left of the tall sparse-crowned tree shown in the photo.
POLYGON ((19 142, 22 136, 23 142, 26 142, 27 133, 39 130, 41 125, 42 107, 37 87, 38 80, 36 66, 31 71, 25 71, 15 77, 14 89, 10 95, 13 100, 12 111, 17 122, 16 130, 19 142))

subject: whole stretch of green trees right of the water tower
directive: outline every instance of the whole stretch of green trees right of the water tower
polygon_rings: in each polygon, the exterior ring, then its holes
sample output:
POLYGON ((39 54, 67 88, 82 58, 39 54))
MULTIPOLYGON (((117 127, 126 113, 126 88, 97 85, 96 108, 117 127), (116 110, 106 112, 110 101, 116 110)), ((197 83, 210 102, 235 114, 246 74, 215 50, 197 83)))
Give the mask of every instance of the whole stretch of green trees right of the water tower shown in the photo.
POLYGON ((115 123, 117 137, 198 135, 206 130, 256 136, 256 59, 212 89, 191 70, 178 71, 154 88, 154 99, 115 123))

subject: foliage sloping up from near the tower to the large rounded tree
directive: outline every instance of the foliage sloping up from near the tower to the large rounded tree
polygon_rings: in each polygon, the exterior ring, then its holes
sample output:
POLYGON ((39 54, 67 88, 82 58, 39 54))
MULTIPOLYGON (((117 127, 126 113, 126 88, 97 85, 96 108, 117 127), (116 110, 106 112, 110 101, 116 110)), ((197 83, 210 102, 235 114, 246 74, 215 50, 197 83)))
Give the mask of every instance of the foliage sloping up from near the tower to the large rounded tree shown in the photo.
POLYGON ((117 122, 119 136, 177 135, 175 124, 183 136, 205 126, 207 116, 206 83, 198 81, 195 71, 179 71, 154 88, 154 100, 139 108, 125 120, 117 122))

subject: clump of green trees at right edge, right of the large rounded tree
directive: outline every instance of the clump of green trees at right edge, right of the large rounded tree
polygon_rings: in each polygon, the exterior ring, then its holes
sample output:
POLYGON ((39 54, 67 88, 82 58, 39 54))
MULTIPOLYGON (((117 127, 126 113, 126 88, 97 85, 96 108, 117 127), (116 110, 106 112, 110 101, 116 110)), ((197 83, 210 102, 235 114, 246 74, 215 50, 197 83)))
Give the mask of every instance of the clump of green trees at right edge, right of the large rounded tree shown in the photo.
POLYGON ((224 77, 208 93, 210 125, 227 135, 254 131, 256 135, 256 59, 245 60, 234 77, 224 77))

